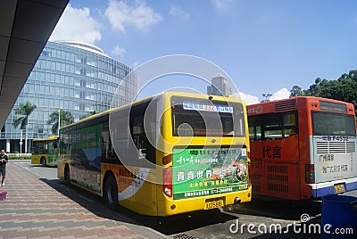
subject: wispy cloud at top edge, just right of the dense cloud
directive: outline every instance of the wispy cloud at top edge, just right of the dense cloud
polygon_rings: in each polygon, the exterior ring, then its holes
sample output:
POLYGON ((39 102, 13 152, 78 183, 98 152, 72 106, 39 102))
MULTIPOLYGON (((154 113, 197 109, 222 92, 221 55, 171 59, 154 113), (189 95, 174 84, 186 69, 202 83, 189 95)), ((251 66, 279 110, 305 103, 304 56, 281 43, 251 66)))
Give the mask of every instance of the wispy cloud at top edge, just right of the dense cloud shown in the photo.
POLYGON ((113 29, 125 32, 128 26, 147 30, 155 23, 162 21, 162 16, 145 4, 145 1, 137 0, 135 5, 129 5, 125 1, 110 0, 104 15, 112 24, 113 29))

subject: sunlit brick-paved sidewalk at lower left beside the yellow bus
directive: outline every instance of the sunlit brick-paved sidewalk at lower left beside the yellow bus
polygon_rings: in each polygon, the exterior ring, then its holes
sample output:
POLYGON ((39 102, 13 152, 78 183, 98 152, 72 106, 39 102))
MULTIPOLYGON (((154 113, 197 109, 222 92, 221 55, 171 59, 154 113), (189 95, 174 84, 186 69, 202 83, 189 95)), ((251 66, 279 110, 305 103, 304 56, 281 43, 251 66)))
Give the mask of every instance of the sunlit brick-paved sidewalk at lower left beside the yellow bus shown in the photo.
POLYGON ((145 227, 105 217, 106 211, 103 216, 95 214, 54 186, 9 162, 5 185, 0 187, 7 191, 6 200, 0 201, 0 238, 161 237, 145 227))

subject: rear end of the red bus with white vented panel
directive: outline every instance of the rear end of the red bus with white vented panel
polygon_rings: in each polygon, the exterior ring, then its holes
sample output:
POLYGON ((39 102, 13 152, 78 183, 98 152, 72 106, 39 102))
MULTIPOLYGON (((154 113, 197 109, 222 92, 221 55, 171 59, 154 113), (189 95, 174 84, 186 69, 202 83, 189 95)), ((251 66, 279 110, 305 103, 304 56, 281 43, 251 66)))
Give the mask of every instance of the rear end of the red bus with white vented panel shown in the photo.
POLYGON ((357 189, 355 115, 352 103, 311 101, 311 164, 306 180, 312 196, 357 189))

